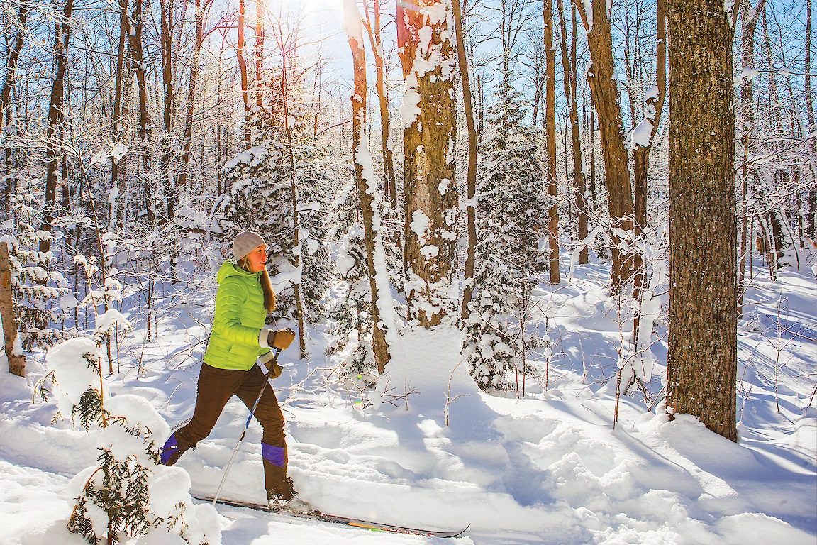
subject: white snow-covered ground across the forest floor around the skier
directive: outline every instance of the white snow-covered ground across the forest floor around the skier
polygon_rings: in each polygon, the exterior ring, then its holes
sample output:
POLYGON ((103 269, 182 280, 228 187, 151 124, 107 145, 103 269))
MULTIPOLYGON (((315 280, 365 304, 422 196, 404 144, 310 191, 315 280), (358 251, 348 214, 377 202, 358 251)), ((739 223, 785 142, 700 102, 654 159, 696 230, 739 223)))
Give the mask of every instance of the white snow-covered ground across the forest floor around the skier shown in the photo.
MULTIPOLYGON (((293 345, 274 384, 301 496, 338 515, 433 529, 471 525, 452 542, 463 545, 817 543, 814 277, 786 270, 748 293, 738 444, 688 416, 668 422, 660 405, 650 410, 641 397, 623 398, 613 429, 615 386, 605 378, 616 369, 619 320, 604 281, 604 270, 583 266, 569 282, 537 290, 538 318, 547 319, 555 346, 547 390, 544 377, 528 377, 521 400, 472 386, 465 364, 457 365, 458 333, 423 332, 400 337, 387 369, 391 393, 415 390, 408 409, 377 406, 387 395, 361 409, 355 392, 327 371, 322 326, 310 330, 312 360, 298 361, 293 345)), ((207 284, 168 299, 152 342, 134 315, 120 373, 106 378, 112 395, 141 395, 171 426, 190 418, 213 290, 207 284)), ((663 373, 661 327, 652 352, 655 373, 663 373)), ((0 360, 0 543, 85 543, 65 530, 74 505, 66 487, 96 462, 100 432, 52 424, 55 405, 32 402, 33 383, 45 373, 44 355, 36 356, 25 379, 0 360)), ((192 490, 215 491, 246 415, 239 400, 230 402, 212 435, 181 458, 192 490)), ((252 422, 223 497, 262 501, 260 441, 252 422)), ((225 545, 435 543, 218 511, 225 545)))

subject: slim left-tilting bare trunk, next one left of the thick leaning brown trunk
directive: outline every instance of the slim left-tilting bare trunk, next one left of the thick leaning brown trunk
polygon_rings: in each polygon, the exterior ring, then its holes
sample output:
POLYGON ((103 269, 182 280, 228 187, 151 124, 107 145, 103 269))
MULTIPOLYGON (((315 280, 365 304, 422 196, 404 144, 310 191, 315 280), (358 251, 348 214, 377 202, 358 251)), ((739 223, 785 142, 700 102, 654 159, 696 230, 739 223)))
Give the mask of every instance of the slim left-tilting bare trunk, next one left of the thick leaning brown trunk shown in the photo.
MULTIPOLYGON (((559 11, 559 25, 561 28, 561 53, 562 53, 562 77, 563 87, 565 87, 565 99, 570 110, 570 141, 573 145, 573 191, 576 213, 578 216, 578 239, 587 238, 587 206, 584 202, 584 170, 582 168, 582 140, 578 132, 578 104, 577 77, 576 77, 576 8, 571 9, 573 15, 573 39, 570 44, 570 55, 567 49, 567 24, 565 23, 565 12, 562 0, 556 0, 556 7, 559 11)), ((584 246, 578 253, 580 265, 586 264, 587 246, 584 246)))

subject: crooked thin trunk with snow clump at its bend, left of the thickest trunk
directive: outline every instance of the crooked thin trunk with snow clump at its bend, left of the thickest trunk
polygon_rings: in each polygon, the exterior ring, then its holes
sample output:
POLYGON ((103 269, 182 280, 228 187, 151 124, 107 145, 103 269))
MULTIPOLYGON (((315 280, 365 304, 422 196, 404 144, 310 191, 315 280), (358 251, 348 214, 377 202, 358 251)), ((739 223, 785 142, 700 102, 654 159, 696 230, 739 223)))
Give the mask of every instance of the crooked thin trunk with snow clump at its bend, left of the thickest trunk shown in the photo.
MULTIPOLYGON (((636 241, 641 239, 647 226, 647 174, 650 171, 650 151, 655 140, 655 133, 659 130, 664 100, 667 96, 667 2, 658 0, 656 12, 656 44, 655 44, 655 87, 654 92, 648 92, 646 98, 645 118, 633 134, 632 159, 633 172, 636 176, 636 206, 635 206, 635 235, 636 241), (641 138, 649 130, 649 140, 641 138)), ((641 321, 641 289, 644 286, 646 271, 644 256, 638 250, 633 255, 635 278, 632 283, 632 298, 638 302, 639 310, 632 320, 632 338, 638 338, 638 326, 641 321)))

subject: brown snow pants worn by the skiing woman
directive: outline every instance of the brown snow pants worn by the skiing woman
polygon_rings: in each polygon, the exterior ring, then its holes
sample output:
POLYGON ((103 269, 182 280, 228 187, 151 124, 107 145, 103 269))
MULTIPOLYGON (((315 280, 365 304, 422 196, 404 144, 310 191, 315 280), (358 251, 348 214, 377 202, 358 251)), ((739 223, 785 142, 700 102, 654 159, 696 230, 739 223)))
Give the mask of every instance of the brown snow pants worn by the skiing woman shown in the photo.
POLYGON ((264 385, 264 393, 258 402, 255 418, 264 428, 261 439, 264 485, 268 495, 277 494, 288 499, 292 497, 292 481, 287 478, 288 457, 287 442, 283 435, 283 414, 272 386, 257 365, 249 371, 238 371, 218 369, 202 363, 193 418, 185 427, 176 431, 176 441, 181 449, 188 449, 207 437, 233 395, 237 395, 252 410, 261 385, 264 385))

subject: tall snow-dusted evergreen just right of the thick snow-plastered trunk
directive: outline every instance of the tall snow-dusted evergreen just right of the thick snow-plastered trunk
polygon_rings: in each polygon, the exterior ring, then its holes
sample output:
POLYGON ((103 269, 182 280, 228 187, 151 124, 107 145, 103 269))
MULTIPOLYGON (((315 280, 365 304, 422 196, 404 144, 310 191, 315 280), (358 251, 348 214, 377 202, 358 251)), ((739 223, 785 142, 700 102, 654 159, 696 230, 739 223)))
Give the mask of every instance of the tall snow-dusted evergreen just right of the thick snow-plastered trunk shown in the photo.
POLYGON ((547 269, 546 181, 534 131, 523 123, 519 94, 508 85, 481 142, 477 184, 476 289, 463 346, 484 391, 507 389, 507 371, 526 372, 541 339, 525 332, 530 292, 547 269), (520 367, 521 364, 521 367, 520 367))

